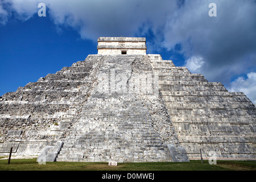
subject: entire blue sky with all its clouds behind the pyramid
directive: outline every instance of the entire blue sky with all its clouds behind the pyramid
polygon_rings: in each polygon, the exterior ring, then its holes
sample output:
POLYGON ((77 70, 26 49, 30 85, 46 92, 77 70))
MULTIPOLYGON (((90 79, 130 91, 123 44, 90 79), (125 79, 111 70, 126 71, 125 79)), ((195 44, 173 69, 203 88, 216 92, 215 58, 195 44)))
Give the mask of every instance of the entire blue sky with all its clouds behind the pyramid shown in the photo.
POLYGON ((0 0, 0 95, 97 53, 98 37, 136 36, 256 104, 255 17, 255 0, 0 0))

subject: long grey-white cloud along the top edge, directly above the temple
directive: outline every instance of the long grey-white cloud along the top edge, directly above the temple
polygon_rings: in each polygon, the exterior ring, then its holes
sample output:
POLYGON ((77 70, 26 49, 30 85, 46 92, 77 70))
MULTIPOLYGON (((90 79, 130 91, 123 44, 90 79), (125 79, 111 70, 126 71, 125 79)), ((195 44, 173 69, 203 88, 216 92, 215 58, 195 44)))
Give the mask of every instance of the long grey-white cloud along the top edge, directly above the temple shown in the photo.
MULTIPOLYGON (((38 11, 39 0, 3 0, 10 14, 26 20, 38 11)), ((166 25, 168 15, 177 8, 176 0, 44 0, 47 15, 58 26, 71 26, 81 38, 134 36, 147 24, 156 35, 166 25)))

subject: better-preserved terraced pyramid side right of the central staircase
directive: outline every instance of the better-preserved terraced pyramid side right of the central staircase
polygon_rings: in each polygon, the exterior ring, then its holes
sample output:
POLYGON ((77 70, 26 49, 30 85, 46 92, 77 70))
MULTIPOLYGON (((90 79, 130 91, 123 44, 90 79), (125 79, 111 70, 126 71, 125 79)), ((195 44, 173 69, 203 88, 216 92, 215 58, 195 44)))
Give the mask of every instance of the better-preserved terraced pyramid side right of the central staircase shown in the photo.
POLYGON ((175 67, 160 55, 148 55, 176 134, 189 159, 216 152, 222 159, 256 158, 256 108, 243 93, 220 82, 175 67))

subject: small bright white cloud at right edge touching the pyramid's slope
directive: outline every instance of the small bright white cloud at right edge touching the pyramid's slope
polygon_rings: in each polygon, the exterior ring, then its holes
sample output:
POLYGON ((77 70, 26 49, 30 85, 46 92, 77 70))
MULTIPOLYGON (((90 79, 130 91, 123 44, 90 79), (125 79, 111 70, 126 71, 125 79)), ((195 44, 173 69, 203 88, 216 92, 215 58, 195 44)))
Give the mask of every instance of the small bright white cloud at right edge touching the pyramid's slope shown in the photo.
POLYGON ((247 78, 238 77, 236 80, 230 83, 230 86, 227 89, 229 92, 245 93, 251 102, 256 104, 256 73, 248 73, 247 78))

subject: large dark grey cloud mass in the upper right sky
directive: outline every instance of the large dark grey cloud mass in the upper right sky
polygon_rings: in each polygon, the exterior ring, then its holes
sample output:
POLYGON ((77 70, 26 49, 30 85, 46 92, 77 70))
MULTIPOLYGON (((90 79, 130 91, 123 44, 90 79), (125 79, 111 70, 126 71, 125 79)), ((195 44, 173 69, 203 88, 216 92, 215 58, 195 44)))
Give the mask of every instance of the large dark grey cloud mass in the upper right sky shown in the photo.
POLYGON ((210 81, 228 84, 251 68, 256 71, 255 59, 247 59, 256 52, 256 2, 214 0, 217 17, 210 17, 212 2, 185 1, 167 20, 163 43, 167 49, 180 44, 188 63, 195 62, 195 55, 202 57, 205 64, 197 71, 210 81))

